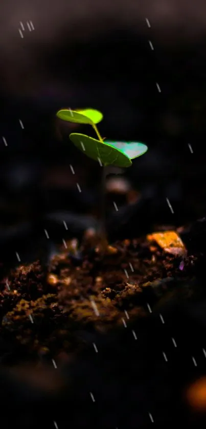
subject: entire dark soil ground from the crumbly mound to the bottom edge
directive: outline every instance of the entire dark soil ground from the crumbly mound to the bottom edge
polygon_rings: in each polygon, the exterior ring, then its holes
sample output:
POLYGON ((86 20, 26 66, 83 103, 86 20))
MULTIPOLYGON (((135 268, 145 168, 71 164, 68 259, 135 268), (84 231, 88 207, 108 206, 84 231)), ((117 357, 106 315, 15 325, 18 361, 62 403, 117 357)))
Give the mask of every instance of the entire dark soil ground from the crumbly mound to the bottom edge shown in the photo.
POLYGON ((19 426, 173 427, 178 418, 197 427, 184 389, 195 377, 194 347, 196 371, 205 371, 204 329, 189 315, 206 298, 202 256, 183 261, 146 238, 113 243, 103 256, 89 233, 80 248, 65 244, 49 266, 19 266, 1 284, 2 368, 11 389, 20 383, 18 401, 25 382, 32 398, 26 417, 17 401, 19 426))

